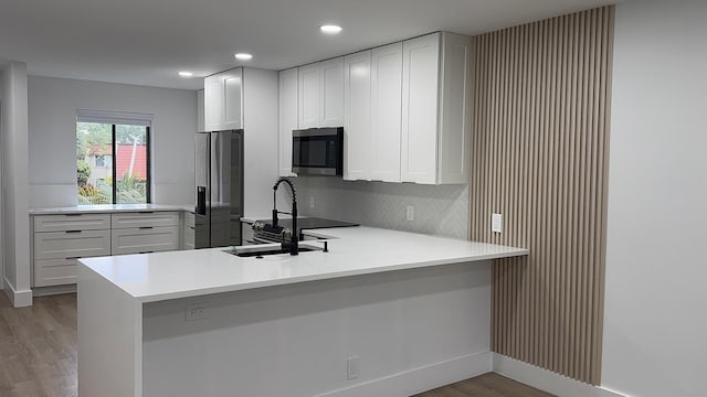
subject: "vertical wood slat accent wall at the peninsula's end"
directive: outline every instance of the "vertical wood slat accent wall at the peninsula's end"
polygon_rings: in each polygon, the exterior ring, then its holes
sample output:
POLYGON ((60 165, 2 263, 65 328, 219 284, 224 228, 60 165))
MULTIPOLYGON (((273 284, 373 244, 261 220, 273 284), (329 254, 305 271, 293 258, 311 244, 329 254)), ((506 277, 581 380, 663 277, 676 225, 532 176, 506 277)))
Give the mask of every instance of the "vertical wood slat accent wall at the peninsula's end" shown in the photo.
POLYGON ((494 352, 599 385, 613 7, 476 37, 471 238, 493 270, 494 352), (504 233, 490 230, 492 213, 504 233))

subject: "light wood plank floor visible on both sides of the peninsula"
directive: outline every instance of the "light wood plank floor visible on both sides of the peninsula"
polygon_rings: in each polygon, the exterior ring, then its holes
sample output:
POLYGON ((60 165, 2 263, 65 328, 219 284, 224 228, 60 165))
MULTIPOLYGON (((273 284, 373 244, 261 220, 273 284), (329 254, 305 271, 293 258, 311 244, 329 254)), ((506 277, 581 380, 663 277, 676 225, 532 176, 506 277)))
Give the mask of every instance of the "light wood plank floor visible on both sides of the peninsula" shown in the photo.
MULTIPOLYGON (((13 309, 0 291, 0 397, 76 396, 76 294, 13 309)), ((486 374, 415 397, 551 397, 486 374)))

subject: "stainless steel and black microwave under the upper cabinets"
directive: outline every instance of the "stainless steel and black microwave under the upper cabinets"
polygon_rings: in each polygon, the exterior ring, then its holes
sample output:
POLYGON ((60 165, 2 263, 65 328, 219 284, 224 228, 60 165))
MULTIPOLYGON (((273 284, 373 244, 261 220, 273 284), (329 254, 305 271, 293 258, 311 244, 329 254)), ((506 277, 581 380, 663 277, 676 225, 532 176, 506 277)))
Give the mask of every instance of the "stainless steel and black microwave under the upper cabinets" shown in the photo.
POLYGON ((344 175, 344 127, 293 130, 292 172, 344 175))

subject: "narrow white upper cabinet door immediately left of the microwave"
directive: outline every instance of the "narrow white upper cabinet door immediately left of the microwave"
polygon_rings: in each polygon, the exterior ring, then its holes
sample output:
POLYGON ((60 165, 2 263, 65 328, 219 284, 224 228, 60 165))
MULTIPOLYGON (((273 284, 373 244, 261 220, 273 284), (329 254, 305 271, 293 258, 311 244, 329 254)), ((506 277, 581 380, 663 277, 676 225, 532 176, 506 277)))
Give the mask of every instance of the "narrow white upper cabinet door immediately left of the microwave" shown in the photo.
POLYGON ((279 72, 279 176, 292 173, 292 130, 297 129, 297 67, 279 72))

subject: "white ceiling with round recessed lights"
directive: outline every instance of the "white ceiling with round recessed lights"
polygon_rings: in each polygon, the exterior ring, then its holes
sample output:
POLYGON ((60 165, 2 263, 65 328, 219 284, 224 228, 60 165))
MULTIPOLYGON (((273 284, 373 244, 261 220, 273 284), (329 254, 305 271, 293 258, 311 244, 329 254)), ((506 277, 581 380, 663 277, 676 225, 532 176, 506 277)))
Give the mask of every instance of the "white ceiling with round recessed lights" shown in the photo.
POLYGON ((238 66, 283 69, 419 34, 477 34, 611 0, 0 0, 0 58, 31 75, 196 89, 238 66), (338 23, 325 36, 318 26, 338 23))

